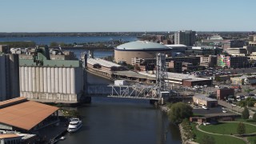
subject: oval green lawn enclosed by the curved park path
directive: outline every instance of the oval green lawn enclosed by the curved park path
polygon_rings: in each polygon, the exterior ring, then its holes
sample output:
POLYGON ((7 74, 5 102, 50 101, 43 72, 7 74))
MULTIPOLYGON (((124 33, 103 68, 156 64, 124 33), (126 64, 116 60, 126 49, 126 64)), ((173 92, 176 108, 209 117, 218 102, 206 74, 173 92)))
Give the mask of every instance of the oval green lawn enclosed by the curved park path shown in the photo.
MULTIPOLYGON (((246 134, 251 134, 256 132, 256 126, 250 126, 245 124, 246 126, 246 134)), ((217 125, 208 125, 208 126, 199 126, 201 130, 205 130, 210 133, 215 134, 238 134, 238 122, 230 122, 230 123, 218 123, 217 125)))

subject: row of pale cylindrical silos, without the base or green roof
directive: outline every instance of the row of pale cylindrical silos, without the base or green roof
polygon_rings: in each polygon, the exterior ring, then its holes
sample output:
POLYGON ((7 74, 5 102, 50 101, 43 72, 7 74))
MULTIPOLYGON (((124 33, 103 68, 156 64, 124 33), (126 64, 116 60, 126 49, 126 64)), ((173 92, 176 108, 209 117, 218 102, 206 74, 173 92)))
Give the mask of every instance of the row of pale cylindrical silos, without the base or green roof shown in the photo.
POLYGON ((20 91, 78 94, 83 90, 81 67, 20 66, 20 91))

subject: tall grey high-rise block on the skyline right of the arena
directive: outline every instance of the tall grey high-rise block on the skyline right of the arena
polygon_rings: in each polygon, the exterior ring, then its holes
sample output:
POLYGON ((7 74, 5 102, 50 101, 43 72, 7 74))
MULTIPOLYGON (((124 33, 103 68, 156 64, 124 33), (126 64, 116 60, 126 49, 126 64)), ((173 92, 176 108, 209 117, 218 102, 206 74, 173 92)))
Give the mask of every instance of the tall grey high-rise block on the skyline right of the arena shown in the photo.
POLYGON ((174 44, 183 44, 194 46, 196 41, 196 32, 192 30, 178 31, 174 33, 174 44))

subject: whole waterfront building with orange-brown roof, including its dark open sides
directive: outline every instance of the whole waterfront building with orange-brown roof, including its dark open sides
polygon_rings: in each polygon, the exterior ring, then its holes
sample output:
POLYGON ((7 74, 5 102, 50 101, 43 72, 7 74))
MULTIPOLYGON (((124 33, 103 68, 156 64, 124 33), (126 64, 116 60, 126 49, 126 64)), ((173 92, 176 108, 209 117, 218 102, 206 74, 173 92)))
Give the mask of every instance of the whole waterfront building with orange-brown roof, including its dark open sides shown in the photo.
POLYGON ((58 107, 19 97, 0 102, 0 129, 33 132, 58 122, 58 107))

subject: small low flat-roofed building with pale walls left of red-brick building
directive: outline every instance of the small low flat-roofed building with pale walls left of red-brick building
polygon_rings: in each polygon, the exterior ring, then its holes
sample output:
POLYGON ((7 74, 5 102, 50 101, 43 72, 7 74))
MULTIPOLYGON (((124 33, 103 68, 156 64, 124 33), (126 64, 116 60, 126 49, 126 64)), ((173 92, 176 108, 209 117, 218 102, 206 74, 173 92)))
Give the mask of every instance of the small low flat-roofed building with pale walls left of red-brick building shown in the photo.
POLYGON ((218 106, 218 101, 213 98, 208 98, 205 95, 195 95, 193 96, 193 102, 198 105, 206 106, 206 107, 214 107, 218 106))

